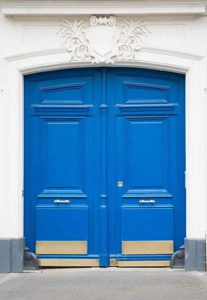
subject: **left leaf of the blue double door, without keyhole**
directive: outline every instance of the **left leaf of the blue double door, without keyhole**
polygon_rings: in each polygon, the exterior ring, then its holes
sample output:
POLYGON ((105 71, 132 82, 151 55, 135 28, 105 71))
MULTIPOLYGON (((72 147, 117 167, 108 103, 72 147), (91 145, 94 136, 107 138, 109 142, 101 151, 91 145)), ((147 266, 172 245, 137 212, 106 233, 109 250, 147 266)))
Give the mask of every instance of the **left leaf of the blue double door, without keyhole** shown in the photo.
POLYGON ((99 254, 100 91, 95 68, 24 77, 24 236, 32 252, 51 240, 84 241, 87 255, 99 254))

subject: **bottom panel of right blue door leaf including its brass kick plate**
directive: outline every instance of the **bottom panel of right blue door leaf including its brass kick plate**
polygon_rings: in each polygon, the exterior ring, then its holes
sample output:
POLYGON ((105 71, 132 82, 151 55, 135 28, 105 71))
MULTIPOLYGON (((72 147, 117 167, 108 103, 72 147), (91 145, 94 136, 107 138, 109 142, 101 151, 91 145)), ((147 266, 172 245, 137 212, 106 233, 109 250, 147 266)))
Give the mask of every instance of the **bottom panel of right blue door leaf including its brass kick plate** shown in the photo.
POLYGON ((121 208, 122 254, 172 254, 173 207, 121 208), (135 230, 137 228, 137 230, 135 230))

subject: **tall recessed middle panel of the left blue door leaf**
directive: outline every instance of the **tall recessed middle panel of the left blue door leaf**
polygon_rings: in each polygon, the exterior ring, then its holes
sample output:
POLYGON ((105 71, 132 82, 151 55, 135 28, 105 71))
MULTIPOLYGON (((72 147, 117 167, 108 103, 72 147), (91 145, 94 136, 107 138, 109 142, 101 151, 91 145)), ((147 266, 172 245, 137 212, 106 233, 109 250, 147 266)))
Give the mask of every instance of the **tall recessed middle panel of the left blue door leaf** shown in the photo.
POLYGON ((83 117, 43 120, 43 192, 83 192, 83 123, 83 117))

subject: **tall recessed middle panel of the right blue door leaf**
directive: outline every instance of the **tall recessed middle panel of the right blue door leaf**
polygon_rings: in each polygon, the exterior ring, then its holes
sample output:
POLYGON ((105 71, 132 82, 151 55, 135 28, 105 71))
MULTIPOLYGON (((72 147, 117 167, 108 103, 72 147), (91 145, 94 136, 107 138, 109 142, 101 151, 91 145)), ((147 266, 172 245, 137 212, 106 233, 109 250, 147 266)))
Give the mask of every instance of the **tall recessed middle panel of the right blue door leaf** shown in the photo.
POLYGON ((125 117, 127 192, 168 189, 167 117, 125 117))

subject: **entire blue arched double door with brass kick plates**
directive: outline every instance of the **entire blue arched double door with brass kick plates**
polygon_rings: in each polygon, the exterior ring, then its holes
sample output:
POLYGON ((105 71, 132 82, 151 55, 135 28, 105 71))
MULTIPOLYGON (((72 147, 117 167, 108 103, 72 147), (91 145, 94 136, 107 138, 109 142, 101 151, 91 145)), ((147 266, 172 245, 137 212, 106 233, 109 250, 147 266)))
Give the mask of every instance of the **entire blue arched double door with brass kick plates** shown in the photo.
POLYGON ((169 265, 185 202, 184 75, 24 77, 24 236, 40 265, 169 265))

